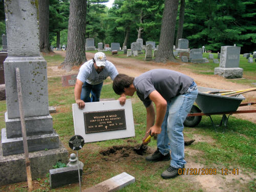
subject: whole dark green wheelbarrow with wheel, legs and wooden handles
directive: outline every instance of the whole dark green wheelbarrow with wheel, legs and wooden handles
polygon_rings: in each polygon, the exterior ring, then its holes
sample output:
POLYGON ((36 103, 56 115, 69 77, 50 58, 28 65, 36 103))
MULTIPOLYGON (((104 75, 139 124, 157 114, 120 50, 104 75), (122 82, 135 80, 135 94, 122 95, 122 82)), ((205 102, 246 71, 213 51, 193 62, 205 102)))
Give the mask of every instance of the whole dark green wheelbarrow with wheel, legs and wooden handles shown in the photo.
POLYGON ((219 126, 221 126, 223 123, 226 129, 228 118, 230 115, 240 114, 240 113, 256 113, 256 110, 237 111, 239 106, 253 105, 256 103, 256 102, 248 102, 248 103, 241 104, 242 100, 245 99, 245 97, 241 94, 238 95, 237 97, 229 97, 225 95, 207 93, 207 92, 217 92, 217 91, 223 91, 223 90, 198 87, 198 96, 196 99, 196 103, 199 106, 199 108, 196 105, 192 106, 190 113, 187 115, 183 123, 184 126, 194 127, 200 123, 202 116, 206 115, 210 117, 212 125, 214 126, 215 131, 217 132, 216 125, 212 120, 211 115, 222 115, 222 120, 219 126), (226 116, 227 114, 228 114, 228 117, 226 116))

